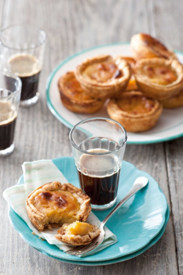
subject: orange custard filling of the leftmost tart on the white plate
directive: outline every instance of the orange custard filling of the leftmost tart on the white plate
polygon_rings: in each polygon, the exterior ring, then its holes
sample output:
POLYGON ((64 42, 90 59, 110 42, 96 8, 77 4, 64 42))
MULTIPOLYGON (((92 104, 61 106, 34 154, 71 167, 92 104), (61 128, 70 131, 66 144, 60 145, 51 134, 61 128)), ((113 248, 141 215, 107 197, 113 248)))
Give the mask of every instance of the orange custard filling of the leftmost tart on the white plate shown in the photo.
POLYGON ((67 89, 67 93, 72 98, 78 98, 81 100, 91 100, 92 98, 87 95, 84 90, 81 88, 81 85, 73 76, 65 83, 65 88, 67 89))

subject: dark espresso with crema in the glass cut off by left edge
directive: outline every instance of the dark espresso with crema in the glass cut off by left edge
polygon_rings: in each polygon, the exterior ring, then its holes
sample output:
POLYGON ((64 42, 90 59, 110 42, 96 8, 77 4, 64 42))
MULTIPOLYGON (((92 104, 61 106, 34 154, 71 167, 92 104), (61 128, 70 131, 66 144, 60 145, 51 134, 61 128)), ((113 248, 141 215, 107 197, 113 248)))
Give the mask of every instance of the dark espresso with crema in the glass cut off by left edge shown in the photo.
POLYGON ((0 150, 9 148, 14 139, 17 112, 8 102, 0 102, 0 150))

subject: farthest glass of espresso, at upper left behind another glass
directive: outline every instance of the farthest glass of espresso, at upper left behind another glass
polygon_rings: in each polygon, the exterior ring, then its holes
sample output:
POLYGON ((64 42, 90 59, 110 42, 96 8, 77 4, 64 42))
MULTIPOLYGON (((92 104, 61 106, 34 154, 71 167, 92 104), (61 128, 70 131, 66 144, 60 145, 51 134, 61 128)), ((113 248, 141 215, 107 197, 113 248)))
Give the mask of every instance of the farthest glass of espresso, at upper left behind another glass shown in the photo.
POLYGON ((39 76, 43 67, 46 35, 38 27, 12 25, 0 33, 2 69, 22 81, 20 105, 31 106, 39 99, 39 76))

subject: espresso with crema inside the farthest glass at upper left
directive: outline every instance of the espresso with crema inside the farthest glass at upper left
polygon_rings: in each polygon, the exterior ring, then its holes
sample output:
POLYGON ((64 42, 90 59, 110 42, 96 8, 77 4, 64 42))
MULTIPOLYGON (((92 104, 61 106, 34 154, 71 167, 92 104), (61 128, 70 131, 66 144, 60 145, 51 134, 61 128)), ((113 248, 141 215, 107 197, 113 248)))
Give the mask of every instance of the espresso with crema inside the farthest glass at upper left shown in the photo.
POLYGON ((8 59, 9 70, 22 80, 20 100, 33 98, 38 91, 40 67, 33 55, 17 54, 8 59))

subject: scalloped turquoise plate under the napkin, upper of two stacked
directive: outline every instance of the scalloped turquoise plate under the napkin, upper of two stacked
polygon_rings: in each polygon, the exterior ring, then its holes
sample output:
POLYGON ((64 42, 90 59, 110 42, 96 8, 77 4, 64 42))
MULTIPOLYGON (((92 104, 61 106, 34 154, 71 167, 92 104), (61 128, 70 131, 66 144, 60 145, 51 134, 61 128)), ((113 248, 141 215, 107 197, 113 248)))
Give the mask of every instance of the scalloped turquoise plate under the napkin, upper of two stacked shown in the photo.
MULTIPOLYGON (((69 182, 79 187, 73 158, 61 157, 53 159, 53 162, 69 182)), ((12 209, 9 211, 9 217, 14 228, 29 245, 50 256, 60 258, 60 260, 102 262, 128 255, 130 257, 132 253, 139 252, 145 247, 149 248, 159 240, 169 217, 169 214, 168 216, 166 214, 168 209, 166 198, 158 183, 149 174, 138 170, 133 164, 126 161, 122 163, 117 202, 126 195, 138 176, 148 177, 148 186, 125 202, 106 224, 117 236, 118 242, 94 255, 82 258, 70 256, 60 251, 57 246, 50 245, 46 241, 40 240, 38 236, 33 235, 27 224, 12 209), (150 245, 151 241, 152 244, 150 245)), ((24 184, 23 176, 20 178, 20 184, 24 184)), ((102 220, 110 211, 111 209, 94 211, 94 213, 102 220)))

